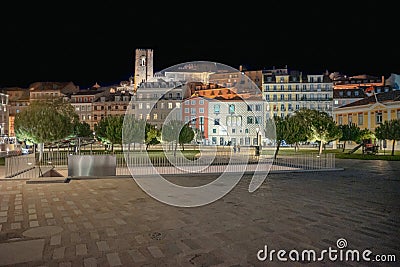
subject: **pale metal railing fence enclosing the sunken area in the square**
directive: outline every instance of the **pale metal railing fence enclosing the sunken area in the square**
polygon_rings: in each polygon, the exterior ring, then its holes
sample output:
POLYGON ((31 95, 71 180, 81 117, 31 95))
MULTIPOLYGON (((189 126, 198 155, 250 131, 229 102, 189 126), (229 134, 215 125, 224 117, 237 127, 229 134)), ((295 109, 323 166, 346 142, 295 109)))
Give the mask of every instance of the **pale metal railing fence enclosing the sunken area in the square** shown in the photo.
MULTIPOLYGON (((40 168, 32 155, 6 158, 5 178, 37 178, 44 170, 68 168, 70 152, 45 152, 40 168)), ((97 153, 104 155, 110 153, 97 153)), ((96 155, 96 153, 92 153, 96 155)), ((191 174, 223 172, 289 172, 335 169, 334 154, 298 154, 272 156, 254 156, 246 154, 221 153, 217 156, 200 158, 166 156, 144 156, 143 153, 116 153, 117 176, 153 175, 153 174, 191 174)))

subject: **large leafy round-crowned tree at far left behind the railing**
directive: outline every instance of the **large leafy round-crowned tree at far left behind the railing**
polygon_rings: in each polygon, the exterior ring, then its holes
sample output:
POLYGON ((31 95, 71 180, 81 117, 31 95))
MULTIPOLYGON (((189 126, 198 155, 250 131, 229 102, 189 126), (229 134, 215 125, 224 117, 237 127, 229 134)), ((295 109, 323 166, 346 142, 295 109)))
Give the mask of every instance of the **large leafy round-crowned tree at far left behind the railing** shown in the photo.
POLYGON ((44 144, 72 135, 78 121, 72 105, 62 98, 34 100, 15 116, 15 135, 18 140, 38 144, 41 162, 44 144))

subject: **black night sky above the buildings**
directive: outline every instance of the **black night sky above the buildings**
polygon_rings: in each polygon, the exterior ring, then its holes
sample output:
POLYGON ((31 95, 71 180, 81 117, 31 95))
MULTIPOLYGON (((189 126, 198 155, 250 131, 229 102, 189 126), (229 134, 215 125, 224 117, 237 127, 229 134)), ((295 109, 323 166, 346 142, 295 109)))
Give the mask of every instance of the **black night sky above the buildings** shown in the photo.
POLYGON ((155 71, 201 60, 250 70, 400 74, 399 23, 389 2, 135 2, 2 4, 0 88, 116 84, 133 75, 136 48, 154 49, 155 71))

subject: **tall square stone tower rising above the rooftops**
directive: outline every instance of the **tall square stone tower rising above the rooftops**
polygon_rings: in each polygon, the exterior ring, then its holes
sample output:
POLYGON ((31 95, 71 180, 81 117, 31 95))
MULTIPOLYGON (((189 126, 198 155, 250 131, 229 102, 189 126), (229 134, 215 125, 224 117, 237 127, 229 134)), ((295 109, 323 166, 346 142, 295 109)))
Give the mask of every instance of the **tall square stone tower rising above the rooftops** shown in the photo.
POLYGON ((133 77, 135 90, 140 83, 153 78, 153 49, 136 49, 133 77))

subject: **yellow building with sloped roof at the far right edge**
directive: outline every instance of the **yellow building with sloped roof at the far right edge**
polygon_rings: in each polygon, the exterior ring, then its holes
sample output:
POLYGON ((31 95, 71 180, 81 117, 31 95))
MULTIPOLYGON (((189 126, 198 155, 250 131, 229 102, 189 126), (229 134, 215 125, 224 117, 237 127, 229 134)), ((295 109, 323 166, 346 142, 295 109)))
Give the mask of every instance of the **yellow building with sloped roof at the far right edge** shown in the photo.
POLYGON ((333 113, 339 125, 354 123, 361 129, 374 132, 382 122, 400 119, 400 91, 373 94, 335 108, 333 113))

